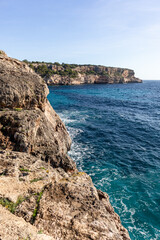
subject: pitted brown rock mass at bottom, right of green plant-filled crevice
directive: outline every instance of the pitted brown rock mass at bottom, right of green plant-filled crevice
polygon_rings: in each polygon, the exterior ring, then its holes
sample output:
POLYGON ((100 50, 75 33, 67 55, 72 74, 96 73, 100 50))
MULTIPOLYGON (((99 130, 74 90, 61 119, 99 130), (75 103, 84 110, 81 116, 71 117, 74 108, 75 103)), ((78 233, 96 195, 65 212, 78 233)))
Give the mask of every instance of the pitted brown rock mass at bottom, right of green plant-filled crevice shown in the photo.
POLYGON ((83 172, 47 186, 35 221, 39 228, 64 240, 129 239, 120 224, 108 195, 97 191, 83 172))

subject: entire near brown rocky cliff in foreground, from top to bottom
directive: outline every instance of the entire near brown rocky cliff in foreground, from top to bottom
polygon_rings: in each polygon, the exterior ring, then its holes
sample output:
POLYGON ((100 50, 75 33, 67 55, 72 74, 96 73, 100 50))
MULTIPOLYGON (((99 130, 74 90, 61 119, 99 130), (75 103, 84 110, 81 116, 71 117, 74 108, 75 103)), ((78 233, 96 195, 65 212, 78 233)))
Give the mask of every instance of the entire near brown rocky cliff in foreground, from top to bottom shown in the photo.
POLYGON ((0 239, 129 240, 108 195, 78 172, 44 80, 0 51, 0 239))

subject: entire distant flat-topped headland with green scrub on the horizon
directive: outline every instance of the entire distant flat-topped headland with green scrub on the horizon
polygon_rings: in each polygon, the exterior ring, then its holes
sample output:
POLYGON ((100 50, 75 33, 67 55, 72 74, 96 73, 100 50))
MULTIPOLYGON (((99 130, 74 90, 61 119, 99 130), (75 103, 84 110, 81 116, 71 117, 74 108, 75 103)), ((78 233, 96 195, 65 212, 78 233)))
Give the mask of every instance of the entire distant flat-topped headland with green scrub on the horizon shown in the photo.
POLYGON ((126 68, 59 63, 28 63, 48 85, 140 83, 134 71, 126 68))

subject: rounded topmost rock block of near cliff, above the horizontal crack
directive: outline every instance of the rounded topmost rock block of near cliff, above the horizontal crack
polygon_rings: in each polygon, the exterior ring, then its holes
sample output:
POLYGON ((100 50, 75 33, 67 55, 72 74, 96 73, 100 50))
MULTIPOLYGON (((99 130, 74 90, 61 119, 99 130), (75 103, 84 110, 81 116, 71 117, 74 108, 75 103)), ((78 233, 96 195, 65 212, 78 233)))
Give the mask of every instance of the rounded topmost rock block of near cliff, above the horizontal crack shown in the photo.
POLYGON ((0 51, 0 108, 40 108, 43 110, 49 91, 43 79, 27 64, 9 58, 0 51), (23 79, 23 81, 22 81, 23 79))

